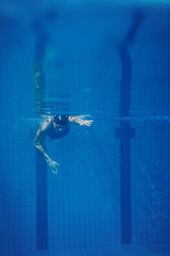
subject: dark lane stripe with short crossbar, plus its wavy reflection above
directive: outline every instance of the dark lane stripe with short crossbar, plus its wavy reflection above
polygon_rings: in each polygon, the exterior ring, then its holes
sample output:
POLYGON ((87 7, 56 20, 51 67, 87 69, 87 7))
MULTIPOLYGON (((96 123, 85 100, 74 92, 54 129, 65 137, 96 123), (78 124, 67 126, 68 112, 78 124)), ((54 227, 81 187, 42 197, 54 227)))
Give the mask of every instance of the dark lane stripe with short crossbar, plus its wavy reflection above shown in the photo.
MULTIPOLYGON (((133 44, 143 16, 140 10, 134 12, 127 37, 118 47, 122 66, 119 108, 119 114, 122 117, 129 116, 131 103, 132 61, 127 47, 133 44)), ((116 128, 116 137, 120 138, 121 239, 122 244, 130 244, 132 243, 130 140, 135 137, 135 130, 130 127, 130 121, 120 122, 120 128, 116 128)))

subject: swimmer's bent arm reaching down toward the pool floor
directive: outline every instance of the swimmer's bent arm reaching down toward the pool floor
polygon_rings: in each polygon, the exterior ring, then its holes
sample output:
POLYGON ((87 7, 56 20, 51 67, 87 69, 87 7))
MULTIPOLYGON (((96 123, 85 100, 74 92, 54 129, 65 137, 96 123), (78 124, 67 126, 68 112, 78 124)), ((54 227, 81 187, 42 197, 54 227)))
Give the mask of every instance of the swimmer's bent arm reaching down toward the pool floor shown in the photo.
POLYGON ((42 154, 42 157, 48 162, 48 166, 51 168, 51 171, 57 174, 58 172, 57 166, 59 166, 59 164, 54 160, 50 159, 50 157, 48 156, 48 154, 45 152, 45 150, 42 148, 42 145, 41 145, 49 129, 49 125, 50 125, 50 120, 42 123, 41 127, 37 131, 37 136, 35 137, 34 145, 39 151, 39 153, 42 154))

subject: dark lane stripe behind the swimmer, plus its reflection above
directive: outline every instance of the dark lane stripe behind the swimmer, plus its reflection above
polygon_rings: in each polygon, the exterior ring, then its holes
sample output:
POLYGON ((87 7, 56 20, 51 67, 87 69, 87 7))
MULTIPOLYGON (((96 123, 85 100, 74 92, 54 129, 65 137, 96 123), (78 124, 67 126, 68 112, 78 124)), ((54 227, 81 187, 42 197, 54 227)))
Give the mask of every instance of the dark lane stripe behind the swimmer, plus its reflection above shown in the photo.
MULTIPOLYGON (((43 61, 46 54, 48 32, 41 20, 34 20, 33 32, 36 38, 36 47, 33 62, 35 83, 35 106, 37 116, 41 116, 46 107, 46 78, 43 61)), ((46 144, 42 147, 46 149, 46 144)), ((48 250, 48 183, 47 164, 39 152, 36 153, 37 172, 37 250, 48 250)))

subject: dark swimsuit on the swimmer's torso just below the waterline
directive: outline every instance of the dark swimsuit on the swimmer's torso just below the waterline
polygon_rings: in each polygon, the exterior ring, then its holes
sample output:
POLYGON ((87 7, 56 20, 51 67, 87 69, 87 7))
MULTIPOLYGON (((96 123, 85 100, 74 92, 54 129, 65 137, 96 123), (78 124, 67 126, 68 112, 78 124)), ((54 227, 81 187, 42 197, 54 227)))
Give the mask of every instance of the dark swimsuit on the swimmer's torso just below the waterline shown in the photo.
POLYGON ((50 124, 50 128, 48 130, 48 136, 51 137, 52 139, 58 139, 61 137, 64 137, 65 135, 67 135, 69 133, 70 130, 70 122, 69 120, 67 121, 67 123, 65 125, 59 125, 59 131, 56 132, 54 130, 54 118, 51 119, 51 124, 50 124))

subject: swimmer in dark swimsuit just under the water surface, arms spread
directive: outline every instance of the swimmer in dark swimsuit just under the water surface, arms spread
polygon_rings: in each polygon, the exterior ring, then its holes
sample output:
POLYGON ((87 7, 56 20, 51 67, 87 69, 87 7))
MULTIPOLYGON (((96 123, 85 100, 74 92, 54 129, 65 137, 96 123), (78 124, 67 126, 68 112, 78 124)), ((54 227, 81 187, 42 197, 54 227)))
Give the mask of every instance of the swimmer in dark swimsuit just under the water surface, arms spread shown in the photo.
POLYGON ((40 126, 39 130, 37 131, 37 136, 34 140, 34 145, 37 150, 42 154, 42 157, 48 162, 48 166, 50 167, 51 171, 55 174, 58 173, 57 166, 59 163, 50 159, 48 154, 42 148, 41 143, 45 136, 50 137, 52 140, 59 139, 64 137, 68 134, 70 130, 70 124, 78 124, 78 125, 87 125, 90 126, 93 120, 86 120, 84 119, 83 115, 79 116, 69 116, 69 115, 54 115, 49 116, 42 125, 40 126))

